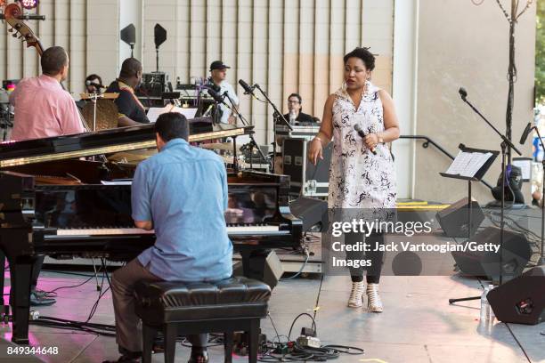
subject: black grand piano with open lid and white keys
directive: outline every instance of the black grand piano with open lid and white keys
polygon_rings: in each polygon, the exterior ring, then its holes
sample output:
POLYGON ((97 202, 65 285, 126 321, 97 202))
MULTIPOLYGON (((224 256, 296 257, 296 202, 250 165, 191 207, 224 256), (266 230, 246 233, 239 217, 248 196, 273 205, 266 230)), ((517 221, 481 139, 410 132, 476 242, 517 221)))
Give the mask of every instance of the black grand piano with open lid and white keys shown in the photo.
MULTIPOLYGON (((251 126, 193 128, 190 141, 249 132, 251 126)), ((134 228, 130 217, 127 180, 135 165, 108 159, 153 147, 153 125, 0 144, 0 263, 4 267, 5 256, 10 265, 12 342, 28 343, 30 276, 38 255, 129 261, 153 245, 153 232, 134 228)), ((228 192, 225 221, 245 274, 252 255, 300 246, 302 222, 289 212, 288 176, 230 172, 228 192)))

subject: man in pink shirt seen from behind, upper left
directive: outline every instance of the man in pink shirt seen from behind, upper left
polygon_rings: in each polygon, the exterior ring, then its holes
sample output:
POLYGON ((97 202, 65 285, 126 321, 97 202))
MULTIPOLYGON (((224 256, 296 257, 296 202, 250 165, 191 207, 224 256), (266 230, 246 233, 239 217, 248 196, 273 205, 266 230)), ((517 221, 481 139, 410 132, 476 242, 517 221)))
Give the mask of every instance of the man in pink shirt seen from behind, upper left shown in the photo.
POLYGON ((76 102, 62 89, 68 77, 69 56, 61 46, 45 50, 42 75, 20 81, 10 95, 15 108, 13 141, 84 133, 76 102))

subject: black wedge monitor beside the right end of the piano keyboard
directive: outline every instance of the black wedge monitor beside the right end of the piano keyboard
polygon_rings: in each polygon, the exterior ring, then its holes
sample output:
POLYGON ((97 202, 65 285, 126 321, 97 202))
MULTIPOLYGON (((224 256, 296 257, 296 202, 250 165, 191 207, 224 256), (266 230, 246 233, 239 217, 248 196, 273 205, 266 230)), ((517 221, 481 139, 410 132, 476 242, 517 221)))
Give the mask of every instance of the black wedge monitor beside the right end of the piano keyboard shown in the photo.
POLYGON ((328 229, 328 202, 324 200, 300 197, 289 203, 289 210, 303 221, 303 232, 313 226, 320 232, 328 229))

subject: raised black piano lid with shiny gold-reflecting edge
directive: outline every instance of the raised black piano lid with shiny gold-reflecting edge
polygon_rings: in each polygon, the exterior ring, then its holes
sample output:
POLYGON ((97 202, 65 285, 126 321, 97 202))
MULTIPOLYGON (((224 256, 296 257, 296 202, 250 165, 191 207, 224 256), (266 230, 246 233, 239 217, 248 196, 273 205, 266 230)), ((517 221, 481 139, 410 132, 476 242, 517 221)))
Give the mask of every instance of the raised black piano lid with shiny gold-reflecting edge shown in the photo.
MULTIPOLYGON (((214 125, 213 131, 191 134, 190 141, 207 141, 250 133, 253 126, 214 125)), ((77 157, 155 148, 154 125, 138 125, 76 133, 45 139, 0 143, 0 169, 77 157)))

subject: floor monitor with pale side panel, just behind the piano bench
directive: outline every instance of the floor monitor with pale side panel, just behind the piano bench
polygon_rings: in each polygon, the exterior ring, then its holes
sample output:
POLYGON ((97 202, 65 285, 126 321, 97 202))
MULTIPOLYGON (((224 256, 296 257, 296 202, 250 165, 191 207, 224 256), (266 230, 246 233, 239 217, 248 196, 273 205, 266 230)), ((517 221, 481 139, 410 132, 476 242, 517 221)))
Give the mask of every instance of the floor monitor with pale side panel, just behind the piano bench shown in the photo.
POLYGON ((282 262, 273 250, 253 251, 248 257, 247 270, 244 270, 243 264, 244 262, 233 266, 233 276, 245 276, 263 281, 268 286, 271 286, 271 289, 278 285, 278 281, 284 273, 282 262))

